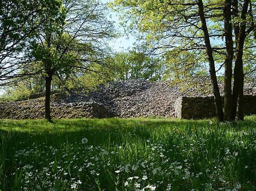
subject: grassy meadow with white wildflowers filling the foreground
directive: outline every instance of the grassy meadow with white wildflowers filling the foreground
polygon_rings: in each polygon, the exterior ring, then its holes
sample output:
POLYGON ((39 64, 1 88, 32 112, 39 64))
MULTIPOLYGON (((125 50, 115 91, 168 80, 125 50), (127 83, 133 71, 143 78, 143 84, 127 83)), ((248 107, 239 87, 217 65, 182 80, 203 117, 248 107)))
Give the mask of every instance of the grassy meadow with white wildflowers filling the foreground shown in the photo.
POLYGON ((0 139, 3 191, 256 190, 255 116, 0 120, 0 139))

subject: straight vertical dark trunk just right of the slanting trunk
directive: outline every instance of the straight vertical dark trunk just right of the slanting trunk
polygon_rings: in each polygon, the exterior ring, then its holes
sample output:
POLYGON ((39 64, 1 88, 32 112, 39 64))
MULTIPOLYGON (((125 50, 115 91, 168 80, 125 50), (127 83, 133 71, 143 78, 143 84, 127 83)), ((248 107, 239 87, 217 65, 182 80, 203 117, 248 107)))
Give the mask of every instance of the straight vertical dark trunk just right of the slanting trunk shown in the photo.
POLYGON ((225 8, 223 10, 225 23, 225 43, 226 43, 226 59, 225 59, 225 77, 224 77, 224 121, 232 120, 232 61, 233 61, 233 34, 231 24, 231 0, 225 0, 225 8))

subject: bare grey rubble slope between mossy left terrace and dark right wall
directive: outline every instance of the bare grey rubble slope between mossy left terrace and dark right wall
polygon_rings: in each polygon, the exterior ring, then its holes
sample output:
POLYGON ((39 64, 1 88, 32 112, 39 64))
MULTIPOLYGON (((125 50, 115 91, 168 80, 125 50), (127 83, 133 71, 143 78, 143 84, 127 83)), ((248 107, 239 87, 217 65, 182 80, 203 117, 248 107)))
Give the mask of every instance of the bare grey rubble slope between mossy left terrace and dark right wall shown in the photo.
MULTIPOLYGON (((168 82, 130 80, 102 84, 88 94, 72 91, 61 104, 96 102, 111 111, 112 117, 168 117, 167 105, 173 106, 178 95, 178 88, 168 82)), ((172 112, 173 107, 173 117, 172 112)))

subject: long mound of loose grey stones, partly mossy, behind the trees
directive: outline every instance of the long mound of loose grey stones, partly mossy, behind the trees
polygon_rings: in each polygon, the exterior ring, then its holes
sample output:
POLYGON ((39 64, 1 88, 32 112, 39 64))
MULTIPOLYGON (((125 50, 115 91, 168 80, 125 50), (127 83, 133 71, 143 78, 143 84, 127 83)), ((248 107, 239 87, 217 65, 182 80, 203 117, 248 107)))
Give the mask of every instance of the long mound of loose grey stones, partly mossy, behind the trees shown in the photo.
MULTIPOLYGON (((223 84, 220 83, 223 94, 223 84)), ((245 83, 244 94, 256 95, 256 86, 245 83)), ((69 94, 51 96, 53 118, 80 117, 175 117, 174 105, 180 96, 212 96, 209 79, 193 82, 149 82, 129 80, 101 84, 94 91, 72 90, 69 94), (170 106, 170 110, 167 109, 170 106)), ((44 96, 0 105, 0 118, 26 119, 44 117, 44 96)), ((32 97, 31 97, 32 98, 32 97)))

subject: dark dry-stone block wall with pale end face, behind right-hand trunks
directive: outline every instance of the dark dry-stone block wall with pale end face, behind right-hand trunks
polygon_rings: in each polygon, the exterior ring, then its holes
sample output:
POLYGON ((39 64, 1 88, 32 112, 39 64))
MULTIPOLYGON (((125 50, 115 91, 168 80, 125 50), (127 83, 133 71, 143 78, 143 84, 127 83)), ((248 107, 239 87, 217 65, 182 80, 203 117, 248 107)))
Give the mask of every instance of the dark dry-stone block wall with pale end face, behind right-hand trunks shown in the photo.
MULTIPOLYGON (((222 100, 224 103, 224 99, 222 100)), ((224 105, 223 105, 224 107, 224 105)), ((175 116, 183 119, 216 117, 214 97, 178 97, 174 105, 175 116)), ((256 114, 256 96, 244 95, 244 114, 256 114)))

